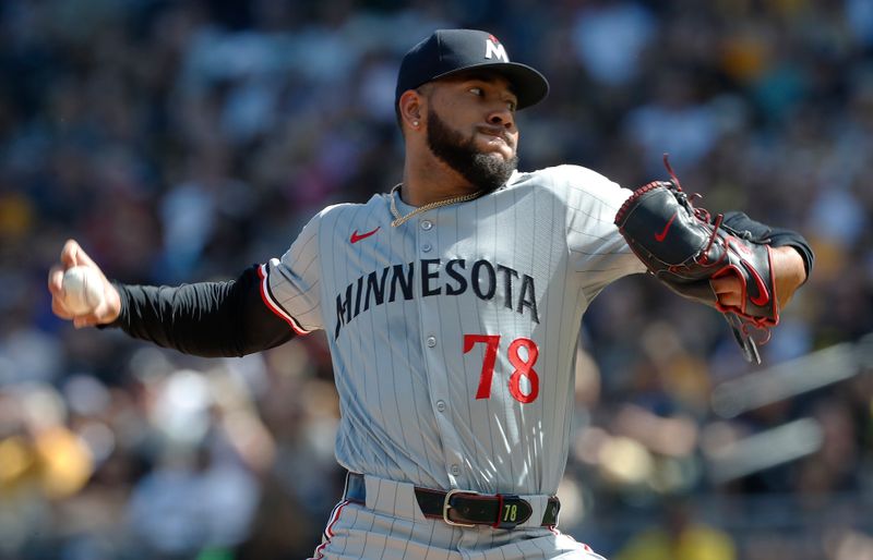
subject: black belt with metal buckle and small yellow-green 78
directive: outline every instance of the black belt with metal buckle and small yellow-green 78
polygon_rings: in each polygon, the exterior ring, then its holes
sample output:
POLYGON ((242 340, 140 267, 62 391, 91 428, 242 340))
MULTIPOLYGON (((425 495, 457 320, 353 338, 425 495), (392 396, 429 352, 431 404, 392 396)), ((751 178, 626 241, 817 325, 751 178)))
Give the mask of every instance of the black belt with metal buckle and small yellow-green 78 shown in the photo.
MULTIPOLYGON (((530 502, 513 494, 479 494, 468 490, 432 490, 416 486, 416 500, 421 513, 428 519, 439 519, 450 525, 471 527, 490 525, 494 528, 515 528, 526 522, 534 513, 530 502)), ((367 485, 363 475, 348 473, 346 476, 345 499, 366 503, 367 485)), ((543 527, 558 524, 558 512, 561 502, 552 496, 549 498, 546 513, 542 515, 543 527)))

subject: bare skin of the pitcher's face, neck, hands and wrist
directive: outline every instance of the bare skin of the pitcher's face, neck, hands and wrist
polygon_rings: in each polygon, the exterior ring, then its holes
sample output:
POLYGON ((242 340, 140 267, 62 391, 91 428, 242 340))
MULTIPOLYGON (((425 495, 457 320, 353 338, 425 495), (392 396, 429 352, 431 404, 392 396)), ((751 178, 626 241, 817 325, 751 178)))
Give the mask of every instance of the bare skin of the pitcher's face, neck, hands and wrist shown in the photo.
MULTIPOLYGON (((417 90, 405 92, 399 99, 406 139, 400 192, 404 202, 422 206, 479 190, 463 174, 435 157, 429 148, 428 118, 433 111, 439 113, 445 125, 461 133, 464 138, 474 138, 480 153, 510 160, 518 147, 515 106, 516 97, 510 82, 494 72, 474 70, 436 80, 417 90)), ((791 247, 776 247, 773 249, 773 269, 777 300, 779 306, 784 307, 806 279, 803 259, 791 247)), ((740 305, 742 284, 738 277, 727 276, 710 283, 721 305, 740 305)), ((58 263, 49 271, 48 289, 55 314, 63 319, 71 319, 76 328, 112 322, 121 313, 118 291, 73 240, 64 244, 58 263), (100 272, 104 280, 105 303, 92 314, 73 316, 63 306, 63 271, 73 266, 92 267, 100 272)))

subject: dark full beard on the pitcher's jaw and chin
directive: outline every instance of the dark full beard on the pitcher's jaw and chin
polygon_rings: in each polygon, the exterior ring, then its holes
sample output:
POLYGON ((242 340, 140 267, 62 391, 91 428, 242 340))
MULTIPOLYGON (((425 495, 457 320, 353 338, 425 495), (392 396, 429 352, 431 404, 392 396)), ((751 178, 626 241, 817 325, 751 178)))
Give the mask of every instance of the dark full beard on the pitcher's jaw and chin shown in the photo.
POLYGON ((486 193, 506 184, 518 167, 518 156, 503 159, 500 154, 482 154, 476 148, 474 137, 465 138, 450 129, 434 111, 428 115, 427 134, 433 155, 486 193))

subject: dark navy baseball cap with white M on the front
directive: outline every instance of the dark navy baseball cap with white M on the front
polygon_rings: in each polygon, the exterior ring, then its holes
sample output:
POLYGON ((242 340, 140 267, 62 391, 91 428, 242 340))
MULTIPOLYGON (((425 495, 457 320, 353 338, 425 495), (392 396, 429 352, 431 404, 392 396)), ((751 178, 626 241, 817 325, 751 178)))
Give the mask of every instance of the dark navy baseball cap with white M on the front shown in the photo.
POLYGON ((549 93, 549 82, 533 68, 510 62, 497 37, 477 29, 436 29, 403 58, 394 105, 407 89, 459 72, 483 69, 504 75, 518 98, 518 109, 530 107, 549 93))

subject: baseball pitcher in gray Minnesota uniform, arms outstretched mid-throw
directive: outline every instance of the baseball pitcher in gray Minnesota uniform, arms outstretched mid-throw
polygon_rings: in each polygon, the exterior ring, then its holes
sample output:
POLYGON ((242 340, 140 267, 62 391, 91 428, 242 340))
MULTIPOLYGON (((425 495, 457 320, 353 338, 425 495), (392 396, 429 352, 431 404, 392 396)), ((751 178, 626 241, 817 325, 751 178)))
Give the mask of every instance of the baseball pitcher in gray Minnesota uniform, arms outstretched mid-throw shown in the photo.
POLYGON ((49 275, 53 311, 203 356, 325 331, 348 476, 313 558, 601 558, 558 529, 555 497, 585 309, 625 275, 701 265, 670 257, 706 249, 719 266, 658 278, 690 297, 708 293, 722 313, 773 316, 813 256, 797 233, 737 212, 704 219, 582 167, 517 170, 516 111, 547 93, 493 35, 438 31, 397 77, 399 184, 325 208, 284 255, 232 281, 129 285, 100 272, 103 302, 76 316, 63 271, 99 269, 70 241, 49 275), (733 260, 713 248, 728 245, 743 245, 733 260), (766 256, 746 266, 744 247, 766 256), (745 305, 765 297, 765 311, 745 305))

